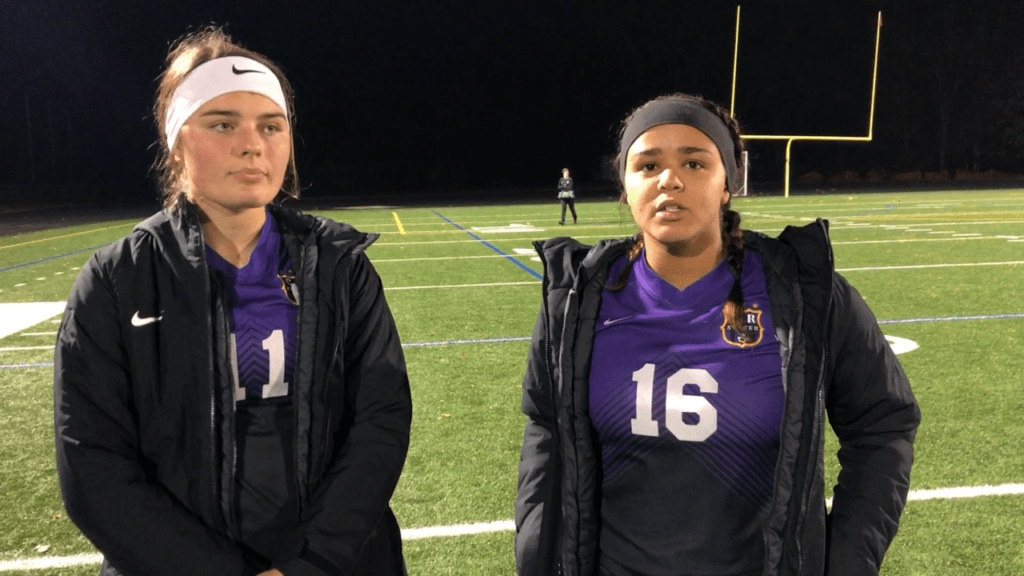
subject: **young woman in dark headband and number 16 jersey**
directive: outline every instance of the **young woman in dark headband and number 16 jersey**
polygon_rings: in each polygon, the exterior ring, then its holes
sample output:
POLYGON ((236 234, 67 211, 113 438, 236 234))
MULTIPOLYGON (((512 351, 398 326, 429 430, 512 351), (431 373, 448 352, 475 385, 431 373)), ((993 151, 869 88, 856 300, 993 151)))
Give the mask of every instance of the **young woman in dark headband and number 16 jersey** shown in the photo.
POLYGON ((827 222, 740 230, 741 150, 719 106, 655 98, 620 133, 636 237, 537 244, 520 575, 878 574, 918 405, 835 272, 827 222), (826 413, 842 466, 830 512, 826 413))

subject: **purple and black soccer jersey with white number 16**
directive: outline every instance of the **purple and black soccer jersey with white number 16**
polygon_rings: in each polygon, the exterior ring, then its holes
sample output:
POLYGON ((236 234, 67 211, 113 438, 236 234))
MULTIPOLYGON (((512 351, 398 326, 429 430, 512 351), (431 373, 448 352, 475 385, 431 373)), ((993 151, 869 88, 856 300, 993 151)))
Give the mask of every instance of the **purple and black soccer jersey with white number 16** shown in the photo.
POLYGON ((725 261, 678 290, 644 256, 622 291, 603 293, 594 339, 601 567, 760 573, 784 400, 760 256, 744 253, 745 339, 724 322, 734 280, 725 261))

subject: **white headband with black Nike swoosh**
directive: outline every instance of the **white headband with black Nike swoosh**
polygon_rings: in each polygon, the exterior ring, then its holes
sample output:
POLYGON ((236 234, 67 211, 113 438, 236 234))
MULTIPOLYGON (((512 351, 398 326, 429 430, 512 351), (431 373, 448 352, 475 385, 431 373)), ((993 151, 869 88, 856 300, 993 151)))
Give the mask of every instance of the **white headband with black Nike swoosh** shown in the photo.
POLYGON ((255 92, 273 100, 288 116, 285 91, 266 66, 245 56, 224 56, 203 63, 185 76, 171 96, 164 133, 167 150, 174 150, 181 126, 206 102, 227 92, 255 92))

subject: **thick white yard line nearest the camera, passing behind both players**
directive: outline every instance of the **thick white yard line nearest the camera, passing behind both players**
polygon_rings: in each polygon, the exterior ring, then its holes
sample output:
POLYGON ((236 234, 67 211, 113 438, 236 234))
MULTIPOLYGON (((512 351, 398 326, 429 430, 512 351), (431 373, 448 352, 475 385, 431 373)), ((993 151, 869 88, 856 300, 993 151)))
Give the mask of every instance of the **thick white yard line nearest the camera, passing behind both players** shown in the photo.
MULTIPOLYGON (((982 496, 1019 496, 1024 495, 1024 484, 1002 484, 999 486, 961 486, 955 488, 939 488, 934 490, 911 490, 908 501, 946 500, 952 498, 979 498, 982 496)), ((830 506, 831 499, 825 501, 830 506)), ((515 530, 515 521, 499 520, 495 522, 477 522, 473 524, 455 524, 451 526, 428 526, 424 528, 407 528, 401 531, 402 540, 421 540, 424 538, 451 538, 488 534, 493 532, 511 532, 515 530)), ((0 572, 15 570, 45 570, 51 568, 70 568, 72 566, 89 566, 99 564, 103 557, 98 553, 75 554, 67 557, 16 559, 0 562, 0 572)))

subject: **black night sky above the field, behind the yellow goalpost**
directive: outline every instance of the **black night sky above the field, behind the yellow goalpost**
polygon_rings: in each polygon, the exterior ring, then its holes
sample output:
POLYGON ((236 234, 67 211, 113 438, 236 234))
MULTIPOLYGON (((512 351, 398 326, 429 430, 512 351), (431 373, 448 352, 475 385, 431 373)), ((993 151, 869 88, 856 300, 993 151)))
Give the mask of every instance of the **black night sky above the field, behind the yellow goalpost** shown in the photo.
MULTIPOLYGON (((1021 4, 743 3, 736 114, 749 133, 865 135, 882 10, 874 141, 797 143, 794 174, 1024 172, 1021 4)), ((156 79, 169 44, 209 24, 291 80, 307 197, 553 189, 563 166, 597 187, 636 106, 674 91, 728 106, 735 14, 681 0, 0 0, 0 204, 155 202, 156 79)), ((784 143, 751 149, 755 179, 777 186, 784 143)))

